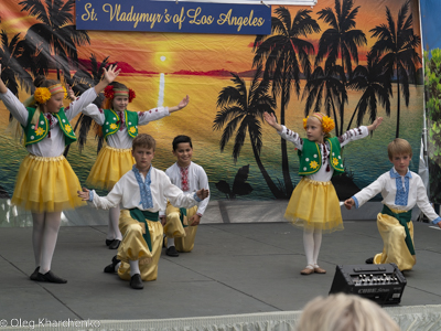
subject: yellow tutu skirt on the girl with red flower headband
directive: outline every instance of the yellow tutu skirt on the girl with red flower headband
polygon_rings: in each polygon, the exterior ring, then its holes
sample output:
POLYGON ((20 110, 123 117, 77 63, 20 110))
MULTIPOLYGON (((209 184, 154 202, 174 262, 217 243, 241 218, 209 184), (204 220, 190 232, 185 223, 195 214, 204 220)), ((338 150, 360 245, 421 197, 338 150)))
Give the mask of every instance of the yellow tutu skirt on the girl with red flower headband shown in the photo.
POLYGON ((87 185, 111 190, 119 179, 135 164, 131 149, 117 149, 105 146, 98 153, 86 180, 87 185))

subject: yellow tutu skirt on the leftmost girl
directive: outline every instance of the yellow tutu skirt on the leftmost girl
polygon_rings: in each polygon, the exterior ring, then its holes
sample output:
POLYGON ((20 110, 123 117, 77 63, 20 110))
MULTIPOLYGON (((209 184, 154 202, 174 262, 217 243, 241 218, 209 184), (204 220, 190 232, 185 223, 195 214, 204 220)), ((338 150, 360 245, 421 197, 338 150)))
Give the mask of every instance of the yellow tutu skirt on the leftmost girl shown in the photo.
POLYGON ((20 166, 12 204, 28 211, 61 212, 86 203, 77 196, 78 178, 63 157, 29 154, 20 166))

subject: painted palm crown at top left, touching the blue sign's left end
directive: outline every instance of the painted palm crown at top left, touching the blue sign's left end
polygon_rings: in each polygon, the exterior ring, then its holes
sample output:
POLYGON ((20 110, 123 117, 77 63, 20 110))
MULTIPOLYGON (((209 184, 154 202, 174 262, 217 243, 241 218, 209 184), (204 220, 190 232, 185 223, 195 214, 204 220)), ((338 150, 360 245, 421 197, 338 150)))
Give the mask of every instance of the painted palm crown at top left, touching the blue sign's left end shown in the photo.
POLYGON ((68 77, 71 64, 77 66, 78 63, 76 46, 90 43, 87 31, 76 30, 73 24, 75 0, 23 0, 19 4, 21 11, 41 22, 30 26, 24 38, 26 53, 34 56, 34 71, 47 73, 50 62, 54 62, 57 79, 61 72, 68 77))

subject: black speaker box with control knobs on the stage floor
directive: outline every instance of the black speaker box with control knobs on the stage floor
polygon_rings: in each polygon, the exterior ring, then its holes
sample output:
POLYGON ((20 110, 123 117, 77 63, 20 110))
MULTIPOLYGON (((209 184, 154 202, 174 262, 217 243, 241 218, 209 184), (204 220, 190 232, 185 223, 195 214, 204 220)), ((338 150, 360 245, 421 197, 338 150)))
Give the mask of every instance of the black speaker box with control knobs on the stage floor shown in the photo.
POLYGON ((336 266, 330 295, 345 292, 378 305, 398 305, 407 281, 395 264, 336 266))

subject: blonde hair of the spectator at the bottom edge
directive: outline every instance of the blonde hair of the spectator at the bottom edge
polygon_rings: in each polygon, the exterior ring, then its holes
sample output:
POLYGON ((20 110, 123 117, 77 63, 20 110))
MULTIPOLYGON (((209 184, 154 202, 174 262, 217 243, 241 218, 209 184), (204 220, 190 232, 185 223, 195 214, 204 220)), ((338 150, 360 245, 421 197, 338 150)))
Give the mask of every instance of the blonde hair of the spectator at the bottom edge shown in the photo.
POLYGON ((377 303, 354 295, 318 297, 303 309, 297 331, 399 331, 377 303))

